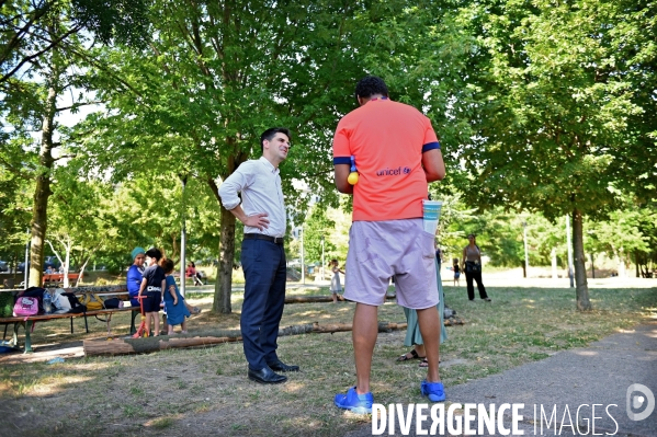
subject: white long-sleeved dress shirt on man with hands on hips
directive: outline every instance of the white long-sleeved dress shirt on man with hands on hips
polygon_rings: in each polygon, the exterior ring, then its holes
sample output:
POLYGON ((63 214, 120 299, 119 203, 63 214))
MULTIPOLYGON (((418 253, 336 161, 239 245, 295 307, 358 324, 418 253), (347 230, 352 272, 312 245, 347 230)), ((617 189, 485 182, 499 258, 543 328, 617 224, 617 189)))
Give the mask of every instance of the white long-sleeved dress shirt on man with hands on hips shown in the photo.
POLYGON ((242 162, 237 170, 219 186, 222 204, 228 210, 239 205, 247 216, 267 212, 269 227, 262 231, 245 226, 245 233, 262 233, 270 237, 285 235, 285 203, 281 189, 280 170, 267 158, 242 162))

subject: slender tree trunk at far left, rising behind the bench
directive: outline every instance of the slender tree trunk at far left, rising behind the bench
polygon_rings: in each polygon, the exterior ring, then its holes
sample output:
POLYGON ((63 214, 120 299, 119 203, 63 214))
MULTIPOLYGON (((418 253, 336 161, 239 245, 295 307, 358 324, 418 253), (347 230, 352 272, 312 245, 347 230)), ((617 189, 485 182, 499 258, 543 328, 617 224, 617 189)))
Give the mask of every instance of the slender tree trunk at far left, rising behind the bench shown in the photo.
POLYGON ((41 286, 43 279, 44 242, 46 239, 48 198, 50 191, 50 172, 55 160, 53 159, 54 119, 57 111, 57 94, 59 89, 59 71, 53 67, 48 78, 48 96, 45 102, 45 112, 42 126, 41 149, 38 151, 38 171, 36 188, 34 189, 34 204, 32 210, 31 246, 30 246, 30 284, 41 286))

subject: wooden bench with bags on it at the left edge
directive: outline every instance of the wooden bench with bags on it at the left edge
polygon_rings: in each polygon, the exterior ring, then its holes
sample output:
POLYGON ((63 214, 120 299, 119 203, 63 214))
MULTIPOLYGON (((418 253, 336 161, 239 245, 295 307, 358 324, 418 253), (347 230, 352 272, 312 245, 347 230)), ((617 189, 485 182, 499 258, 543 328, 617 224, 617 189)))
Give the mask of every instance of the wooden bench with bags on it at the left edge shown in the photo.
MULTIPOLYGON (((54 288, 49 288, 48 289, 50 292, 53 292, 55 289, 54 288)), ((93 292, 99 297, 102 298, 118 298, 123 301, 127 301, 129 303, 129 294, 127 291, 127 287, 125 285, 118 285, 118 286, 102 286, 102 287, 78 287, 78 288, 61 288, 61 290, 64 292, 72 292, 76 296, 81 296, 86 292, 93 292)), ((0 290, 0 292, 16 292, 16 291, 12 291, 12 290, 0 290)), ((31 340, 31 331, 32 331, 32 326, 34 326, 34 322, 38 322, 38 321, 48 321, 48 320, 57 320, 57 319, 70 319, 70 332, 71 334, 73 333, 73 318, 84 318, 84 329, 87 330, 87 333, 89 333, 89 323, 88 323, 88 318, 89 317, 95 317, 97 319, 104 321, 107 323, 107 331, 110 330, 110 322, 112 320, 112 314, 115 312, 126 312, 126 311, 131 311, 132 312, 132 318, 131 318, 131 331, 129 333, 133 334, 136 332, 135 329, 135 319, 137 317, 137 314, 140 313, 140 309, 139 307, 131 307, 129 304, 124 307, 124 308, 113 308, 113 309, 102 309, 102 310, 93 310, 93 311, 87 311, 87 312, 80 312, 80 313, 64 313, 64 314, 39 314, 39 315, 29 315, 29 317, 11 317, 11 318, 0 318, 0 325, 4 325, 4 337, 7 337, 7 327, 10 324, 13 324, 13 340, 12 343, 14 346, 18 346, 19 340, 19 326, 23 325, 25 327, 25 354, 32 353, 32 340, 31 340), (99 315, 107 315, 106 320, 102 320, 99 318, 99 315)))

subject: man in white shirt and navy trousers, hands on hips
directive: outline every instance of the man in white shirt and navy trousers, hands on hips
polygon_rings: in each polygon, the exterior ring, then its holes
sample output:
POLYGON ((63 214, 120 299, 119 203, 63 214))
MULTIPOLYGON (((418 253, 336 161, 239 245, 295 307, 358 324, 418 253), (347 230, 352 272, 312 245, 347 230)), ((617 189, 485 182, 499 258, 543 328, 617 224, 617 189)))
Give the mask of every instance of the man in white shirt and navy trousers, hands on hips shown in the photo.
POLYGON ((249 363, 248 378, 260 383, 285 382, 276 371, 297 371, 276 355, 279 324, 285 304, 285 204, 279 164, 290 151, 290 130, 267 129, 260 136, 262 157, 243 162, 224 181, 219 196, 245 225, 241 266, 245 298, 240 329, 249 363), (238 193, 241 193, 241 204, 238 193))

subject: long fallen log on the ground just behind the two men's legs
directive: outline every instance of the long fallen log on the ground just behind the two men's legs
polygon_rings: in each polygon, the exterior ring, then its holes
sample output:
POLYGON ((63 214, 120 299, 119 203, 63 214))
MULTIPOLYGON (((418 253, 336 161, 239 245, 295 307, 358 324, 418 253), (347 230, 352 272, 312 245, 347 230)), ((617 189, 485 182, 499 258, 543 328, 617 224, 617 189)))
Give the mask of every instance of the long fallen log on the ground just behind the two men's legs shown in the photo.
MULTIPOLYGON (((378 323, 378 332, 390 332, 406 329, 406 323, 378 323)), ((333 333, 351 331, 351 323, 337 323, 320 325, 319 323, 306 323, 287 326, 279 330, 279 336, 299 335, 311 332, 333 333)), ((146 338, 114 338, 114 340, 86 340, 82 342, 84 355, 128 355, 146 354, 155 350, 173 349, 180 347, 214 346, 222 343, 239 342, 241 333, 238 330, 204 331, 171 336, 146 337, 146 338)))

